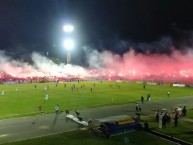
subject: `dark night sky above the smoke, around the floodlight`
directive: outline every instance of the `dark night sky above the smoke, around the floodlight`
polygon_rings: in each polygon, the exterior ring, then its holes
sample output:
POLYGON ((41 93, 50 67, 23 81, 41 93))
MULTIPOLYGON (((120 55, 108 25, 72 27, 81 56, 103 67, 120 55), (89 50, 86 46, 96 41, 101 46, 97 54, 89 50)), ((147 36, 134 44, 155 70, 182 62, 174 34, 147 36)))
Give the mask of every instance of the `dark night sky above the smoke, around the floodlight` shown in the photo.
POLYGON ((85 45, 120 55, 193 48, 192 0, 0 0, 0 50, 63 59, 65 23, 75 27, 74 56, 85 45))

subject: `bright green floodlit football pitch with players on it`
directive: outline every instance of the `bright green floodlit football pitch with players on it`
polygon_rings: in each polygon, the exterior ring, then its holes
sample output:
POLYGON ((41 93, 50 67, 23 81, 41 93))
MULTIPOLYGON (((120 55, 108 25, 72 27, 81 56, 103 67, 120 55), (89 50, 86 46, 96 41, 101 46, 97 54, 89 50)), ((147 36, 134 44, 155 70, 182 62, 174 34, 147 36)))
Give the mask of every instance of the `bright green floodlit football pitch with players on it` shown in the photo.
POLYGON ((146 99, 148 93, 153 100, 168 99, 168 91, 170 98, 193 95, 192 88, 169 85, 146 85, 146 89, 143 89, 140 83, 128 82, 67 82, 65 84, 66 87, 64 83, 58 83, 57 86, 56 83, 37 83, 36 88, 35 84, 1 84, 0 90, 4 90, 5 95, 0 94, 0 119, 37 114, 39 105, 42 106, 44 113, 51 113, 55 111, 56 104, 59 104, 60 111, 63 111, 128 104, 139 101, 141 96, 146 99), (73 84, 75 90, 72 91, 73 84), (49 89, 45 90, 45 86, 49 89), (49 95, 48 101, 45 101, 46 93, 49 95))

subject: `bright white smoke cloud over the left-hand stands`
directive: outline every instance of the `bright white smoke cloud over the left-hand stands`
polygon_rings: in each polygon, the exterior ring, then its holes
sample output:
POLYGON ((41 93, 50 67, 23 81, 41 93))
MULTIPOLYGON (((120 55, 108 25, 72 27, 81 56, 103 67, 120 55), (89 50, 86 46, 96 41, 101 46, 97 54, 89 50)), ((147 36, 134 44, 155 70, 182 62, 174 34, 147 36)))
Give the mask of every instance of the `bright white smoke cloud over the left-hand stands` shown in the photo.
POLYGON ((10 74, 15 77, 84 77, 88 76, 87 70, 76 65, 64 65, 63 63, 56 64, 52 60, 37 52, 32 53, 33 65, 13 60, 5 55, 4 51, 0 51, 0 72, 10 74))

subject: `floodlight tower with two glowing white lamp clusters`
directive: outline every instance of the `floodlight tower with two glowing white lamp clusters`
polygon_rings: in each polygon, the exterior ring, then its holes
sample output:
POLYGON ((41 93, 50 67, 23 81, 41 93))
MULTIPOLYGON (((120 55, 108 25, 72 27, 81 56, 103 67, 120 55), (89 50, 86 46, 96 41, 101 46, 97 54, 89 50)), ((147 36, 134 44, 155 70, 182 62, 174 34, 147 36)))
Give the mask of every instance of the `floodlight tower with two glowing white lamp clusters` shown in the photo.
MULTIPOLYGON (((63 27, 64 32, 67 34, 72 33, 74 30, 74 27, 72 25, 64 25, 63 27)), ((73 39, 66 38, 64 40, 64 47, 67 51, 67 57, 66 57, 66 63, 71 63, 71 49, 74 47, 74 41, 73 39)))

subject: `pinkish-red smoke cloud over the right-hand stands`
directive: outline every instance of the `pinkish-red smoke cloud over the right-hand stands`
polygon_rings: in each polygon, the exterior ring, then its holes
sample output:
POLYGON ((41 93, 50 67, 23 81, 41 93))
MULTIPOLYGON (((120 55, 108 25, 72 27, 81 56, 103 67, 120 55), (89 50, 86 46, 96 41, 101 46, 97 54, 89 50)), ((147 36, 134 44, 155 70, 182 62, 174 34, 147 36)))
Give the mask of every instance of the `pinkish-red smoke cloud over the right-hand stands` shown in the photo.
POLYGON ((129 51, 123 57, 118 55, 112 55, 112 58, 103 57, 101 63, 103 71, 100 70, 99 74, 102 72, 108 79, 192 83, 192 54, 192 52, 182 54, 179 51, 173 51, 170 55, 139 54, 129 51))

